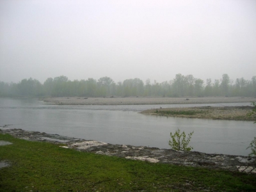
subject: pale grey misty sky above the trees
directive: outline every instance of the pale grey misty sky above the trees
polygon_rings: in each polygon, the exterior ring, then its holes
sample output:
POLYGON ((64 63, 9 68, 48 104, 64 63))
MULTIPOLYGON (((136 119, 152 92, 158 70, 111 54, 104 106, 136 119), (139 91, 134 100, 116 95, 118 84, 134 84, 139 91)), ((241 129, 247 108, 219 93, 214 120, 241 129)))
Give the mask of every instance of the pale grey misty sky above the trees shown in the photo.
POLYGON ((256 1, 0 0, 0 81, 256 76, 256 1))

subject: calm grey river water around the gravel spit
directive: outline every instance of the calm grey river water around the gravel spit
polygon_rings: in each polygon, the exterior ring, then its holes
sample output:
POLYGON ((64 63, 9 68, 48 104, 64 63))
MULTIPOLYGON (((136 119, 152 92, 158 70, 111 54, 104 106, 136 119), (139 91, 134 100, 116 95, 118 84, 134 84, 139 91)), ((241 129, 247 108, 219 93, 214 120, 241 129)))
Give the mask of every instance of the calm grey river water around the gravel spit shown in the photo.
MULTIPOLYGON (((189 106, 246 106, 234 104, 173 104, 162 108, 189 106)), ((112 144, 170 148, 170 132, 178 128, 194 131, 189 143, 194 151, 247 156, 256 136, 253 122, 200 120, 142 115, 145 109, 160 105, 136 106, 58 106, 38 99, 0 98, 0 126, 60 134, 112 144)), ((3 129, 1 127, 1 129, 3 129)))

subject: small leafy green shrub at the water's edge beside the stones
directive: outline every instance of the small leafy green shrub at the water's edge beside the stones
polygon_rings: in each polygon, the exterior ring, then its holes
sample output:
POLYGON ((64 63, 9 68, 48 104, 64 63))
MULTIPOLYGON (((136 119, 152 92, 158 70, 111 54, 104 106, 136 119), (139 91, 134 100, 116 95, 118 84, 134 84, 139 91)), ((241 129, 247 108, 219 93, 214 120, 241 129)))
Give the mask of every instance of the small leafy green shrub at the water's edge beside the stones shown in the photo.
POLYGON ((191 140, 191 136, 193 135, 193 132, 190 132, 188 134, 188 138, 186 139, 186 134, 183 131, 180 134, 180 129, 178 129, 177 131, 175 131, 175 134, 172 134, 172 132, 170 132, 170 136, 172 138, 172 141, 169 140, 169 145, 172 149, 174 150, 191 150, 193 149, 193 147, 188 147, 188 143, 191 140))

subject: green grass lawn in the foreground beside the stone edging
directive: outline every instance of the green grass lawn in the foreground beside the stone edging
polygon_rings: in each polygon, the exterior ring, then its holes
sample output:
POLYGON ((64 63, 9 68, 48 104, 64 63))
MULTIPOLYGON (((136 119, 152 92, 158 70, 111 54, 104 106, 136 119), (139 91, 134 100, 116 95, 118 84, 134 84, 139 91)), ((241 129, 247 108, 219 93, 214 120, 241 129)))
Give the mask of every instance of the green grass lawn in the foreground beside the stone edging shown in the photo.
POLYGON ((256 191, 255 175, 154 164, 19 140, 0 146, 0 191, 256 191))

